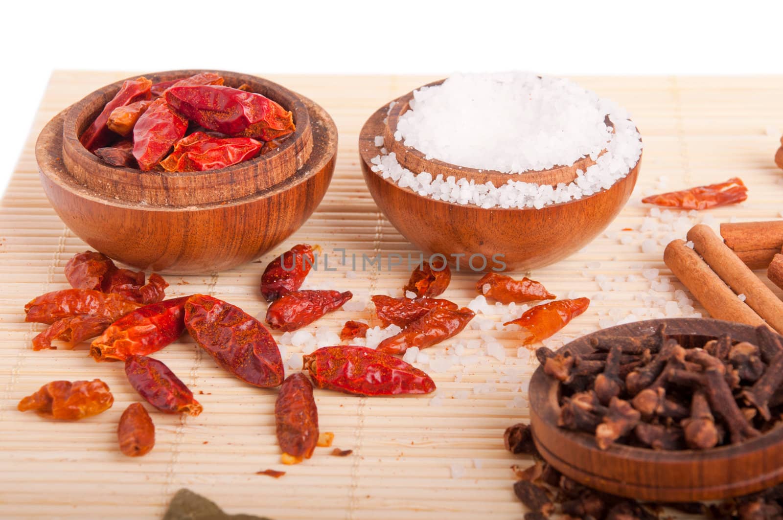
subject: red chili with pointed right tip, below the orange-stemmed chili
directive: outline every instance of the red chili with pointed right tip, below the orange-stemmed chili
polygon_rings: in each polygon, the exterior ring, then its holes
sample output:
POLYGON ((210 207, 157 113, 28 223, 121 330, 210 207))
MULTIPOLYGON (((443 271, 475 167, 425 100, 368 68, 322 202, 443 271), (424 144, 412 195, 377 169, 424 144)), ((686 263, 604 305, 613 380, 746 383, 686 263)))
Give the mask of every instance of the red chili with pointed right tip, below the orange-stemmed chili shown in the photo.
POLYGON ((290 291, 269 305, 266 323, 273 329, 297 330, 340 309, 351 298, 351 291, 290 291))

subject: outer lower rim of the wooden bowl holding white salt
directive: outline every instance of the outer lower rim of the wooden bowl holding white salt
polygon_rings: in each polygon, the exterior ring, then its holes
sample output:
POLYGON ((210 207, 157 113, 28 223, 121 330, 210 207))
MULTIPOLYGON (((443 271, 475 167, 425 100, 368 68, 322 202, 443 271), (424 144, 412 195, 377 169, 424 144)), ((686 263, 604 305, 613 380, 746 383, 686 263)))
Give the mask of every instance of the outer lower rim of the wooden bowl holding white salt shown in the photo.
MULTIPOLYGON (((399 99, 399 98, 397 98, 399 99)), ((396 99, 395 99, 396 100, 396 99)), ((402 187, 397 184, 397 182, 394 182, 392 179, 384 178, 380 174, 380 172, 373 172, 372 167, 374 164, 372 164, 371 160, 373 157, 376 157, 377 155, 380 155, 381 151, 380 148, 375 146, 375 136, 376 135, 382 135, 384 123, 383 119, 384 117, 387 117, 386 111, 388 110, 388 103, 386 103, 383 107, 376 110, 370 117, 365 121, 361 132, 359 132, 359 156, 361 157, 363 163, 365 164, 365 167, 367 168, 367 171, 372 175, 377 175, 382 181, 387 182, 389 185, 391 185, 393 188, 396 188, 397 190, 402 190, 405 193, 408 193, 409 195, 412 195, 414 197, 419 197, 424 200, 428 200, 430 203, 438 203, 438 204, 447 204, 449 206, 453 206, 455 208, 464 208, 464 209, 476 209, 476 210, 482 210, 482 211, 540 211, 538 208, 501 208, 500 206, 494 206, 493 208, 482 208, 481 206, 477 206, 476 204, 459 204, 456 202, 450 202, 449 200, 435 200, 432 197, 429 197, 427 195, 420 195, 419 193, 413 191, 410 189, 410 187, 402 187)), ((638 128, 637 128, 638 132, 638 128)), ((641 136, 639 138, 641 141, 641 136)), ((420 152, 419 152, 420 153, 420 152)), ((558 208, 561 206, 565 206, 567 204, 578 204, 579 202, 583 202, 586 200, 590 200, 592 197, 597 197, 598 195, 601 195, 602 193, 606 193, 608 190, 611 190, 616 185, 627 182, 629 179, 635 179, 637 175, 633 175, 634 170, 638 170, 639 165, 641 164, 641 159, 644 156, 644 150, 641 151, 639 154, 639 159, 637 160, 636 164, 633 165, 628 170, 628 173, 621 177, 620 179, 617 179, 612 186, 609 186, 608 188, 604 188, 601 190, 598 190, 597 192, 594 192, 590 195, 587 195, 586 197, 582 197, 579 199, 572 199, 567 200, 565 202, 557 202, 556 204, 547 204, 543 206, 541 209, 547 209, 547 208, 558 208)), ((464 168, 463 168, 464 169, 464 168)), ((368 174, 369 175, 369 174, 368 174)), ((513 180, 513 179, 510 179, 513 180)), ((636 182, 635 180, 633 182, 636 182)))

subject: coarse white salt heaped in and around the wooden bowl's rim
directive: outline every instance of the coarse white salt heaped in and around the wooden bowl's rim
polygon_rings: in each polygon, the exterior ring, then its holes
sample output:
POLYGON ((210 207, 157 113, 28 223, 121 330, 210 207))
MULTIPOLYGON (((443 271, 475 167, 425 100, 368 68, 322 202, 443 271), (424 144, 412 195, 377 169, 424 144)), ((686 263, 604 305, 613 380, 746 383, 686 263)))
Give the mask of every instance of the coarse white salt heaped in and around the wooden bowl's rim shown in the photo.
POLYGON ((373 172, 424 197, 481 208, 543 208, 607 190, 639 160, 642 145, 625 110, 572 81, 536 74, 458 74, 443 85, 414 92, 395 139, 428 157, 511 174, 501 186, 428 172, 411 172, 395 153, 372 159, 373 172), (476 125, 492 115, 491 125, 476 125), (615 132, 604 123, 609 118, 615 132), (601 150, 606 150, 598 157, 601 150), (514 173, 573 164, 596 164, 556 187, 514 180, 514 173))

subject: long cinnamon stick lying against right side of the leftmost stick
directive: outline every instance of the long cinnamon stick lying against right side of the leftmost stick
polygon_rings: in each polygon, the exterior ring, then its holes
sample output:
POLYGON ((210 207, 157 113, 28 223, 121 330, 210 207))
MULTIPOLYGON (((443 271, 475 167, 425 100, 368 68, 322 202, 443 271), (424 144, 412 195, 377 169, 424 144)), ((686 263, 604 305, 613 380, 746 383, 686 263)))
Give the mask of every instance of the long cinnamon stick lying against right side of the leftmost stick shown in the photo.
MULTIPOLYGON (((712 228, 699 224, 687 233, 695 251, 736 294, 745 294, 745 304, 783 333, 783 302, 770 291, 742 260, 734 255, 712 228)), ((735 297, 736 298, 736 297, 735 297)))

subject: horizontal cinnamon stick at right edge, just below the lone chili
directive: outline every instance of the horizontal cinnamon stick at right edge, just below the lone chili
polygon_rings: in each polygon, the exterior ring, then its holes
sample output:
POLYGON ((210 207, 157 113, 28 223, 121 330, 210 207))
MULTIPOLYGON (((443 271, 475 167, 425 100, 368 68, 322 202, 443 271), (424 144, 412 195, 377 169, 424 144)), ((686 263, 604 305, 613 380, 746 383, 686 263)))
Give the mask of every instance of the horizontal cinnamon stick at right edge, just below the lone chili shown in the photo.
POLYGON ((783 220, 723 222, 720 236, 750 269, 765 269, 783 247, 783 220))

